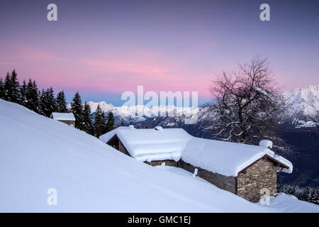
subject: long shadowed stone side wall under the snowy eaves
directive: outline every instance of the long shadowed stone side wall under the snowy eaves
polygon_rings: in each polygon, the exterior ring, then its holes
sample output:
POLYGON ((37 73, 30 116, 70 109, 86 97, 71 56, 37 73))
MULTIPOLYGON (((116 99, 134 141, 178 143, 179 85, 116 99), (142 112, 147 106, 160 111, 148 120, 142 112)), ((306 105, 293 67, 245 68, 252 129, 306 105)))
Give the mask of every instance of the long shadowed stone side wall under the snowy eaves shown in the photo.
MULTIPOLYGON (((183 160, 179 160, 178 167, 187 170, 189 172, 194 172, 195 167, 189 163, 184 162, 183 160)), ((214 184, 220 189, 224 189, 228 192, 232 192, 235 194, 236 192, 236 178, 235 177, 227 177, 224 175, 220 175, 215 172, 210 172, 208 170, 203 170, 197 167, 198 173, 197 176, 205 179, 206 181, 214 184)))

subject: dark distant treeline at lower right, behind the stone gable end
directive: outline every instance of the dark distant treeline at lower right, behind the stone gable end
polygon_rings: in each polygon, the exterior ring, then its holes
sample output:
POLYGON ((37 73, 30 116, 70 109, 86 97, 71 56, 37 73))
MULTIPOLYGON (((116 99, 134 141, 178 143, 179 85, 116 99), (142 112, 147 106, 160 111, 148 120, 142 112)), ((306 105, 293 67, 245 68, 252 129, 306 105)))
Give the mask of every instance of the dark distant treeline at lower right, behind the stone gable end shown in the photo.
POLYGON ((277 184, 277 192, 292 194, 297 199, 319 205, 319 188, 299 187, 291 184, 277 184))

